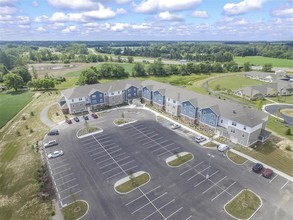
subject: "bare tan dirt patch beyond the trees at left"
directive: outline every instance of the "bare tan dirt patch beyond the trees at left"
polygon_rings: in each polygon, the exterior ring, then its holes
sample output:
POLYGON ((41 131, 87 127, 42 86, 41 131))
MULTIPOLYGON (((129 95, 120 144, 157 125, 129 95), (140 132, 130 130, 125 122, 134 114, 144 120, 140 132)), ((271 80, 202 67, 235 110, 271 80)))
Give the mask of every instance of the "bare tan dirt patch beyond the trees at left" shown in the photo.
POLYGON ((69 63, 69 64, 37 63, 37 64, 31 64, 28 67, 30 71, 32 71, 31 67, 33 66, 38 76, 40 78, 43 78, 45 74, 48 74, 49 76, 54 76, 54 77, 64 76, 65 73, 80 71, 88 67, 91 67, 93 65, 97 65, 97 63, 69 63))

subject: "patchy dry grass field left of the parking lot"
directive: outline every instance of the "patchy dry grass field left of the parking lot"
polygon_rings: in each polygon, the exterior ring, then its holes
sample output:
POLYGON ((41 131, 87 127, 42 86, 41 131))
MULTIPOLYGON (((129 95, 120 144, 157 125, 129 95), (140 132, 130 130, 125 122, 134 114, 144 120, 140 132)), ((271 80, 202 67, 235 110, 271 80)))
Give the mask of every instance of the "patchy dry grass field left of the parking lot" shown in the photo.
POLYGON ((40 94, 23 112, 26 120, 19 116, 0 132, 0 219, 47 220, 52 213, 51 200, 38 196, 37 170, 42 162, 33 145, 49 130, 42 124, 40 112, 59 95, 40 94))

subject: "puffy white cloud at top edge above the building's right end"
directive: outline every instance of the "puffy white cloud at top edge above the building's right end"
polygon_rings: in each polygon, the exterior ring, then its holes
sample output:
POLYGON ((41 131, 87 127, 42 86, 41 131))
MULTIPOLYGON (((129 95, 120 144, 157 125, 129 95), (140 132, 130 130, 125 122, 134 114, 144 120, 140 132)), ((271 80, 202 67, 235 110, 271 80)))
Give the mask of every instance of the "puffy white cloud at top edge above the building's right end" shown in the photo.
POLYGON ((239 3, 227 3, 224 5, 226 15, 245 14, 252 10, 261 9, 267 0, 243 0, 239 3))

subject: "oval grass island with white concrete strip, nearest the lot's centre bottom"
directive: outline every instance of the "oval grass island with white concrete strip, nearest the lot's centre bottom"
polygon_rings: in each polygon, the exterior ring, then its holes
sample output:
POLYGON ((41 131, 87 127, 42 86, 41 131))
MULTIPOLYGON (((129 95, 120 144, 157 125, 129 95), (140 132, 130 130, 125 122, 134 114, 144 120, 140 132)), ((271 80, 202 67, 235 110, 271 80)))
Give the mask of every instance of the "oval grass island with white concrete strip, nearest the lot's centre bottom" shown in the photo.
POLYGON ((147 172, 130 172, 127 177, 124 177, 115 183, 114 189, 117 193, 127 194, 136 188, 147 184, 150 179, 151 176, 147 172))

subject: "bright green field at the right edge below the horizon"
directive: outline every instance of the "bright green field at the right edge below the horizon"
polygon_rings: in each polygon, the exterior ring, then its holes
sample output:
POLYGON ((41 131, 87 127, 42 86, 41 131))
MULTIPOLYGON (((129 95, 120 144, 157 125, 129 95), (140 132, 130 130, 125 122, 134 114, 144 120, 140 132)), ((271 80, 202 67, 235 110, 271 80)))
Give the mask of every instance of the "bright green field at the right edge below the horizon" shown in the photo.
POLYGON ((292 68, 292 60, 278 59, 271 57, 261 57, 261 56, 247 56, 247 57, 234 57, 234 61, 238 64, 243 64, 249 62, 251 65, 263 66, 264 64, 271 63, 273 67, 287 67, 292 68))

